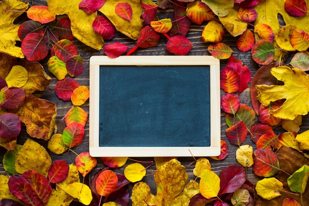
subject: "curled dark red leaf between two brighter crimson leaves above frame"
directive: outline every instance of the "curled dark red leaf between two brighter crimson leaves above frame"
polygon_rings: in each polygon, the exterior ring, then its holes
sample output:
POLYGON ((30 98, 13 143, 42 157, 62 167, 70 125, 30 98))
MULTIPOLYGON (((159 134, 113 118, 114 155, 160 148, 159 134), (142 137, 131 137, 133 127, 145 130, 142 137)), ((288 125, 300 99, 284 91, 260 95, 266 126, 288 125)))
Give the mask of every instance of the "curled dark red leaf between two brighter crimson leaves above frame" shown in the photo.
POLYGON ((150 26, 144 27, 137 39, 137 46, 141 48, 149 48, 156 46, 159 42, 160 35, 155 32, 150 26))

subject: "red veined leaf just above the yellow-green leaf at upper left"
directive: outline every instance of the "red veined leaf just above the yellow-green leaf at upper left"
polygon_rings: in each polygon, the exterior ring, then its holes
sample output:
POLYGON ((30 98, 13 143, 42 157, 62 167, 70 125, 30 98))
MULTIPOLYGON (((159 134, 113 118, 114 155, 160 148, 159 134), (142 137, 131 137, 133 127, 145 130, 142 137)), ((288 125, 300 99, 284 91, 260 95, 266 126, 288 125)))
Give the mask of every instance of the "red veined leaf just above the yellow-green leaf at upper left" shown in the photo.
POLYGON ((63 62, 77 55, 77 47, 70 40, 60 40, 53 46, 56 56, 63 62))

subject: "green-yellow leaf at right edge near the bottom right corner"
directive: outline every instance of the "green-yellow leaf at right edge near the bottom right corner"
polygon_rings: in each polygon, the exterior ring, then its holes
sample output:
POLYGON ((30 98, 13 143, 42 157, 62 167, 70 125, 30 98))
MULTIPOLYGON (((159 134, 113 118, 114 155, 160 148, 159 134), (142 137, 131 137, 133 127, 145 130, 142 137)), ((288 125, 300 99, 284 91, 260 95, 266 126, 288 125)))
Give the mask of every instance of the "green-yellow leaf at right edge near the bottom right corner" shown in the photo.
POLYGON ((306 190, 308 179, 309 165, 303 165, 288 178, 288 185, 290 190, 303 194, 306 190))

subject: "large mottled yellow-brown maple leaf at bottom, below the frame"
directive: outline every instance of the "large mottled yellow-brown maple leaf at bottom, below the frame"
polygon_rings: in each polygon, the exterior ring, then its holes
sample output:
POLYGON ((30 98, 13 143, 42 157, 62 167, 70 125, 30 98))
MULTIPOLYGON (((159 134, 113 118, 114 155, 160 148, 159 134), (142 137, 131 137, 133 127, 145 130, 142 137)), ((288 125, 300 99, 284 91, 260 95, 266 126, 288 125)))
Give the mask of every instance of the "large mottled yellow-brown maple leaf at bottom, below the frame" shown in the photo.
POLYGON ((198 183, 191 180, 185 166, 172 159, 160 166, 154 174, 157 191, 154 196, 144 182, 134 185, 132 190, 133 206, 188 206, 191 198, 199 193, 198 183), (187 185, 186 185, 187 184, 187 185))

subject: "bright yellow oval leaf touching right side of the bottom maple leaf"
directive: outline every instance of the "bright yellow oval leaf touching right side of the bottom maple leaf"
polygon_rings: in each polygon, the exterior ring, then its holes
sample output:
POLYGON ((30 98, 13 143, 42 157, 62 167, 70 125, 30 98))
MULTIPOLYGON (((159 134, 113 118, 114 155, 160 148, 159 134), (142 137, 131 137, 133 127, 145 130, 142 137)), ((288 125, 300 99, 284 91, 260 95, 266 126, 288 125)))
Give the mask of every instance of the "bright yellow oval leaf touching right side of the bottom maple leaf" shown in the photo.
POLYGON ((210 199, 217 197, 219 190, 220 190, 219 176, 211 170, 205 170, 202 173, 199 181, 200 194, 203 197, 210 199))

